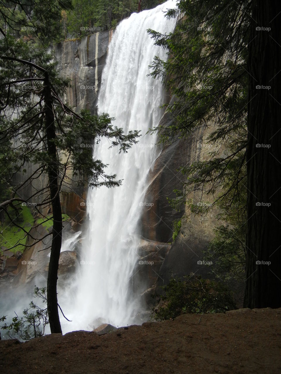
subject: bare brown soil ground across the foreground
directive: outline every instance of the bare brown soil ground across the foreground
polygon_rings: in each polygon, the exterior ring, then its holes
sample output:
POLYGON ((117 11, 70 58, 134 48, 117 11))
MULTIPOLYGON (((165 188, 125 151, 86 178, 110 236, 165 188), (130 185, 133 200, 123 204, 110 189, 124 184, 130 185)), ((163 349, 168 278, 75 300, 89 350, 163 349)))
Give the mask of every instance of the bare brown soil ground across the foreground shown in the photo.
POLYGON ((281 373, 281 309, 0 341, 1 373, 281 373))

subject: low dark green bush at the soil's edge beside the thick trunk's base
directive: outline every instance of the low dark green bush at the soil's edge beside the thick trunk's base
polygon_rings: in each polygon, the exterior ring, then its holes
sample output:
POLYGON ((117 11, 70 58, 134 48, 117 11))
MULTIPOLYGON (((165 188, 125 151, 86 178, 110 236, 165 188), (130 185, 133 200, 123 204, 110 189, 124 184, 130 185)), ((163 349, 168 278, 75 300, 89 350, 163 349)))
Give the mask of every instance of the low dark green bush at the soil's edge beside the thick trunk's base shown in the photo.
POLYGON ((175 319, 186 313, 223 313, 236 308, 225 286, 193 274, 183 280, 172 278, 162 289, 161 303, 152 308, 155 321, 175 319))

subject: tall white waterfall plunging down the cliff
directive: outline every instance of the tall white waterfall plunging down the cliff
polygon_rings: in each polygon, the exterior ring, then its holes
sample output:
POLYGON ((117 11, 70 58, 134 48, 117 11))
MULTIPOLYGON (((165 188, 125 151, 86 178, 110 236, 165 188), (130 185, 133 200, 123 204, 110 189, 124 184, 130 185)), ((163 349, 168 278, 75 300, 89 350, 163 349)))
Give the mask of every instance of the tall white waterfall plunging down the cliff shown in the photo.
POLYGON ((88 191, 89 228, 68 316, 76 319, 75 328, 142 322, 139 297, 131 292, 131 277, 138 262, 138 222, 147 177, 159 154, 156 135, 146 132, 158 124, 163 114, 159 109, 163 104, 161 82, 147 74, 155 55, 167 58, 165 50, 153 44, 146 30, 172 32, 175 19, 164 16, 172 7, 175 1, 170 0, 155 9, 132 14, 118 25, 109 45, 98 112, 115 117, 113 125, 122 127, 125 134, 141 130, 141 138, 127 154, 119 154, 117 147, 109 149, 106 139, 95 145, 94 159, 109 164, 106 173, 117 174, 123 182, 120 187, 88 191))

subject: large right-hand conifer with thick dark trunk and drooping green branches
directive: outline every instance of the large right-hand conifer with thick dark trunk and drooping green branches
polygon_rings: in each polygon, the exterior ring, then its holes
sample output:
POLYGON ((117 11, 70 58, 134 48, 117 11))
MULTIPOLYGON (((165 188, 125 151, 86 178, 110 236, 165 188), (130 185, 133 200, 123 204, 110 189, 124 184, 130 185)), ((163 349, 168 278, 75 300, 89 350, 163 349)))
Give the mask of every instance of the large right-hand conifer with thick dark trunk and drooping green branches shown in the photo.
POLYGON ((201 189, 243 217, 248 307, 281 304, 280 14, 279 1, 181 0, 168 12, 179 17, 174 34, 149 30, 169 54, 167 62, 155 57, 151 75, 176 98, 167 107, 174 121, 152 131, 165 143, 214 125, 210 158, 183 166, 185 194, 174 203, 192 206, 201 189))

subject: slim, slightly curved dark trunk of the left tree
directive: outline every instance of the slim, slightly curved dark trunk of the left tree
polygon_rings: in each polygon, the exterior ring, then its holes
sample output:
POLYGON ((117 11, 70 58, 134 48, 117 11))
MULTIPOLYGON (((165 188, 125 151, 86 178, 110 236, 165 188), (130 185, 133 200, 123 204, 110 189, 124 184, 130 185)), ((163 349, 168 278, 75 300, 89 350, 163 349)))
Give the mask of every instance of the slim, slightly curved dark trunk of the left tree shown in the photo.
POLYGON ((45 116, 46 116, 46 136, 48 145, 48 154, 52 160, 48 166, 49 190, 52 199, 53 210, 53 237, 51 255, 49 261, 48 280, 47 280, 47 307, 51 333, 62 333, 58 314, 58 297, 56 293, 56 284, 58 280, 58 262, 61 251, 61 233, 62 233, 62 215, 61 203, 59 200, 59 168, 55 145, 55 122, 53 113, 53 102, 51 96, 51 85, 48 73, 45 72, 45 116))

